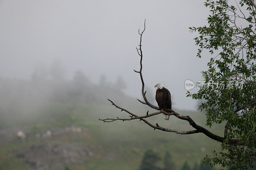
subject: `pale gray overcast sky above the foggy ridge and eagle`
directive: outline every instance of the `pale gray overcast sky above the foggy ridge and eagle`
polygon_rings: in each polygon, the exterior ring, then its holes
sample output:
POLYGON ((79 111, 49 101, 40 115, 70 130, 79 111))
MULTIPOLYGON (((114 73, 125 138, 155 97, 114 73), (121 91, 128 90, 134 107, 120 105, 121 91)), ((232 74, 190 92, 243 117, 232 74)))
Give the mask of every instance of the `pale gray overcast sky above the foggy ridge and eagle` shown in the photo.
POLYGON ((138 29, 143 34, 143 76, 149 89, 164 83, 173 107, 195 109, 186 98, 186 79, 201 80, 210 55, 196 57, 190 26, 207 24, 202 0, 172 1, 0 1, 0 76, 30 78, 36 65, 60 60, 68 77, 82 70, 98 83, 122 75, 125 92, 141 97, 138 29))

